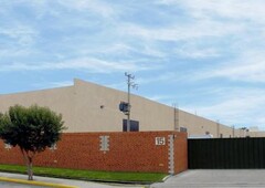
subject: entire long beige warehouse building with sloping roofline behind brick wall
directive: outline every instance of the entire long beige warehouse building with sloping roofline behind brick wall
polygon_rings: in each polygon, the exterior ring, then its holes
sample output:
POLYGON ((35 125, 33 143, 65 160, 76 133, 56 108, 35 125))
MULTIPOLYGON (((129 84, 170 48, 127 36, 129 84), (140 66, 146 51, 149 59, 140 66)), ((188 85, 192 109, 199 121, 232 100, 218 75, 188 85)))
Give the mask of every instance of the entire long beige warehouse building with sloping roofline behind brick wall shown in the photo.
MULTIPOLYGON (((72 86, 0 95, 0 112, 7 112, 14 104, 38 104, 62 113, 68 133, 123 132, 127 118, 118 107, 123 101, 127 101, 125 92, 74 80, 72 86)), ((139 132, 187 130, 189 136, 210 134, 213 137, 265 135, 234 129, 137 95, 131 95, 130 102, 131 126, 139 132)))

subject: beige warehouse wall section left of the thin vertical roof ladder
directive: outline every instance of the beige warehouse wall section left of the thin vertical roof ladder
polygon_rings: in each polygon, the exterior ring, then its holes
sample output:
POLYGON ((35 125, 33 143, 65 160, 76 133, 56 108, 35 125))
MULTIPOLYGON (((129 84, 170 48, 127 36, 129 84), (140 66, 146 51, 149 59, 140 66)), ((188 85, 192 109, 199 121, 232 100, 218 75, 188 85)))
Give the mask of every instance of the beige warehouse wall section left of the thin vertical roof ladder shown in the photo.
MULTIPOLYGON (((0 95, 0 112, 14 104, 38 104, 62 113, 66 133, 123 132, 127 116, 118 105, 126 100, 125 92, 75 80, 68 87, 0 95)), ((139 130, 173 130, 171 107, 136 95, 131 105, 131 119, 139 122, 139 130)))

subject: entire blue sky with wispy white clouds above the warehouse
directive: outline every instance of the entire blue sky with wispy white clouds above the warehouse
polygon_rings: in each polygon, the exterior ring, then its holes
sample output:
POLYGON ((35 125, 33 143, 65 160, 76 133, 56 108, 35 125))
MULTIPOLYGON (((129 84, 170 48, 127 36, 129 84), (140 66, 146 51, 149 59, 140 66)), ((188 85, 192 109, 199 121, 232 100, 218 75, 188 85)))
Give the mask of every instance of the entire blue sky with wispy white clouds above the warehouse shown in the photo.
MULTIPOLYGON (((264 0, 0 0, 0 94, 81 79, 265 130, 264 0)), ((132 105, 134 107, 134 105, 132 105)))

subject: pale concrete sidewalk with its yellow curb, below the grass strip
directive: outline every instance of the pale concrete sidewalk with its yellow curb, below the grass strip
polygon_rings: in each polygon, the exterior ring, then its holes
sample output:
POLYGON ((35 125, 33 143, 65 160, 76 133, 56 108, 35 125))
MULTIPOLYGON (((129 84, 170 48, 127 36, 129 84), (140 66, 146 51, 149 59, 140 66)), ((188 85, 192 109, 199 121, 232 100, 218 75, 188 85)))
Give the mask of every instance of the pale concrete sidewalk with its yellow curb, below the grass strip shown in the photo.
POLYGON ((91 182, 91 181, 82 181, 82 180, 73 180, 73 179, 60 179, 60 178, 47 178, 34 176, 33 181, 28 181, 26 175, 19 174, 9 174, 9 173, 0 173, 0 182, 1 181, 10 181, 18 184, 29 184, 34 186, 49 186, 49 187, 59 187, 59 188, 144 188, 144 186, 134 186, 134 185, 110 185, 110 184, 99 184, 99 182, 91 182))

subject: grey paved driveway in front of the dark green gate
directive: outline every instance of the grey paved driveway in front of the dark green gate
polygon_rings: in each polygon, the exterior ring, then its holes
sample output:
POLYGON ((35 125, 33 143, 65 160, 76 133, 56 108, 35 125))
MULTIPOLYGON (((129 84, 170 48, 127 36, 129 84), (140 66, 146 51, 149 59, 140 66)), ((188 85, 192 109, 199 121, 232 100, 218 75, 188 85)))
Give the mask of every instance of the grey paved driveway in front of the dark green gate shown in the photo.
POLYGON ((265 187, 265 170, 187 170, 150 188, 265 187))

